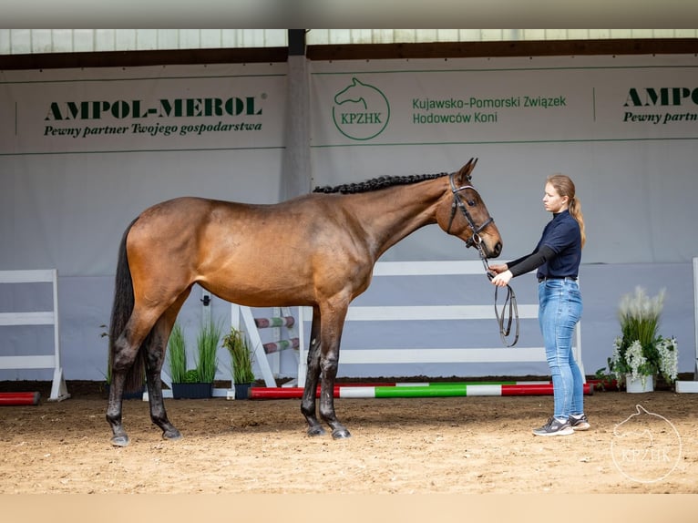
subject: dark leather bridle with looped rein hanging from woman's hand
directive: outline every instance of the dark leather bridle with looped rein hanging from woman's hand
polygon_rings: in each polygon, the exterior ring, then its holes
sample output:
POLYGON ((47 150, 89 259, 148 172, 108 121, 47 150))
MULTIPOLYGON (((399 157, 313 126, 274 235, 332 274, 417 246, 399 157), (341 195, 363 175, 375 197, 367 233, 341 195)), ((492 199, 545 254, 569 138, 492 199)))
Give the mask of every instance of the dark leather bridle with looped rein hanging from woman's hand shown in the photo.
MULTIPOLYGON (((467 220, 467 226, 473 231, 472 235, 470 238, 467 239, 466 241, 466 246, 467 247, 473 247, 475 246, 477 248, 477 252, 480 255, 480 260, 482 261, 483 266, 485 267, 485 273, 487 274, 489 280, 491 281, 492 278, 494 278, 493 273, 489 269, 488 265, 488 257, 485 254, 485 250, 482 247, 482 238, 480 238, 480 231, 485 229, 490 223, 494 221, 494 219, 490 216, 487 220, 485 220, 479 227, 476 226, 475 220, 473 220, 473 217, 470 215, 470 212, 468 212, 466 205, 463 203, 463 200, 460 198, 460 194, 458 194, 461 190, 466 190, 466 189, 471 189, 474 190, 477 193, 477 190, 472 186, 472 185, 462 185, 461 187, 456 187, 456 183, 454 182, 454 178, 456 176, 455 172, 452 172, 448 176, 448 183, 451 186, 451 193, 453 194, 453 203, 451 203, 451 217, 448 220, 448 227, 447 227, 447 233, 451 231, 451 226, 453 225, 453 220, 456 218, 456 212, 459 209, 462 213, 463 216, 467 220)), ((470 177, 468 176, 466 178, 466 181, 470 181, 470 177)), ((468 201, 468 205, 474 205, 474 203, 471 203, 468 201)), ((514 290, 507 285, 507 296, 504 299, 504 303, 502 305, 502 313, 499 313, 499 310, 497 308, 497 295, 498 295, 498 287, 495 287, 495 316, 497 317, 497 323, 499 325, 499 336, 502 339, 502 344, 504 344, 507 347, 513 347, 514 345, 517 344, 518 342, 518 305, 517 305, 517 297, 516 294, 514 293, 514 290), (505 317, 505 310, 508 309, 508 318, 505 317), (514 333, 514 341, 512 343, 507 342, 507 337, 509 333, 511 333, 511 324, 514 323, 514 320, 516 320, 516 332, 514 333), (507 325, 505 326, 505 321, 507 325)))

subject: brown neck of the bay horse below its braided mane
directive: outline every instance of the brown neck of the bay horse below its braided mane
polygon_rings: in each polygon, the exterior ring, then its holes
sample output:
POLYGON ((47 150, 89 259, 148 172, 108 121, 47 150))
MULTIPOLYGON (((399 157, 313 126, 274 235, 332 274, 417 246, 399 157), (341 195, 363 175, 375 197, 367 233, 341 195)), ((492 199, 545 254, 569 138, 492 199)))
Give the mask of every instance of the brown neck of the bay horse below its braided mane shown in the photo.
POLYGON ((356 195, 347 210, 362 224, 377 259, 412 232, 436 223, 436 204, 444 189, 443 179, 432 179, 365 192, 356 195))

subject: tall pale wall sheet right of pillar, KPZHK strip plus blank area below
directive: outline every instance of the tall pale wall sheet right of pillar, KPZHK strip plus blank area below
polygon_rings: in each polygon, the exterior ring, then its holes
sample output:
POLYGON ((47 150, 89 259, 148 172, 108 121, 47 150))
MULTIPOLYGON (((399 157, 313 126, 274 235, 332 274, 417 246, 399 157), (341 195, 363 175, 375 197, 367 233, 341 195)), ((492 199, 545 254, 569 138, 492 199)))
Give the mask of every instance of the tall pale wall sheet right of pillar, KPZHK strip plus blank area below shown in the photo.
MULTIPOLYGON (((313 186, 454 171, 504 239, 529 253, 549 220, 545 178, 570 175, 585 263, 689 262, 698 197, 698 57, 543 56, 312 64, 313 186)), ((416 231, 384 260, 477 256, 416 231)))

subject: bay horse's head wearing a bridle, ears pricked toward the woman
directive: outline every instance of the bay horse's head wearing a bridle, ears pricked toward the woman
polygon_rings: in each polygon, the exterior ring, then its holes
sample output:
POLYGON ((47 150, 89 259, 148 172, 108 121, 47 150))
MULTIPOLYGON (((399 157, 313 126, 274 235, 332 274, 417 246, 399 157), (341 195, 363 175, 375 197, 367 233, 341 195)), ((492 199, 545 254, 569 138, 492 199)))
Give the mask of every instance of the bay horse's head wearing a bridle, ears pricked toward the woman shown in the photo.
POLYGON ((477 159, 470 159, 458 172, 448 176, 447 190, 439 201, 436 221, 448 234, 476 246, 487 258, 497 258, 502 251, 502 238, 485 202, 473 187, 471 172, 477 159))

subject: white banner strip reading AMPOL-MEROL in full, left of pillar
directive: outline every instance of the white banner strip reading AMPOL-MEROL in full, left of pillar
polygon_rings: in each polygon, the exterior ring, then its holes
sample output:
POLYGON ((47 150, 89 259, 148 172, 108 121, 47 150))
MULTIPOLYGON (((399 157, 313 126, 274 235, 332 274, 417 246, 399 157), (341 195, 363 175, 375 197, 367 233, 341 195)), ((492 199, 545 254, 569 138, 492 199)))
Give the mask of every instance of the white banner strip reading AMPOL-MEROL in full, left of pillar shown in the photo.
POLYGON ((0 72, 0 154, 282 147, 285 64, 0 72))

